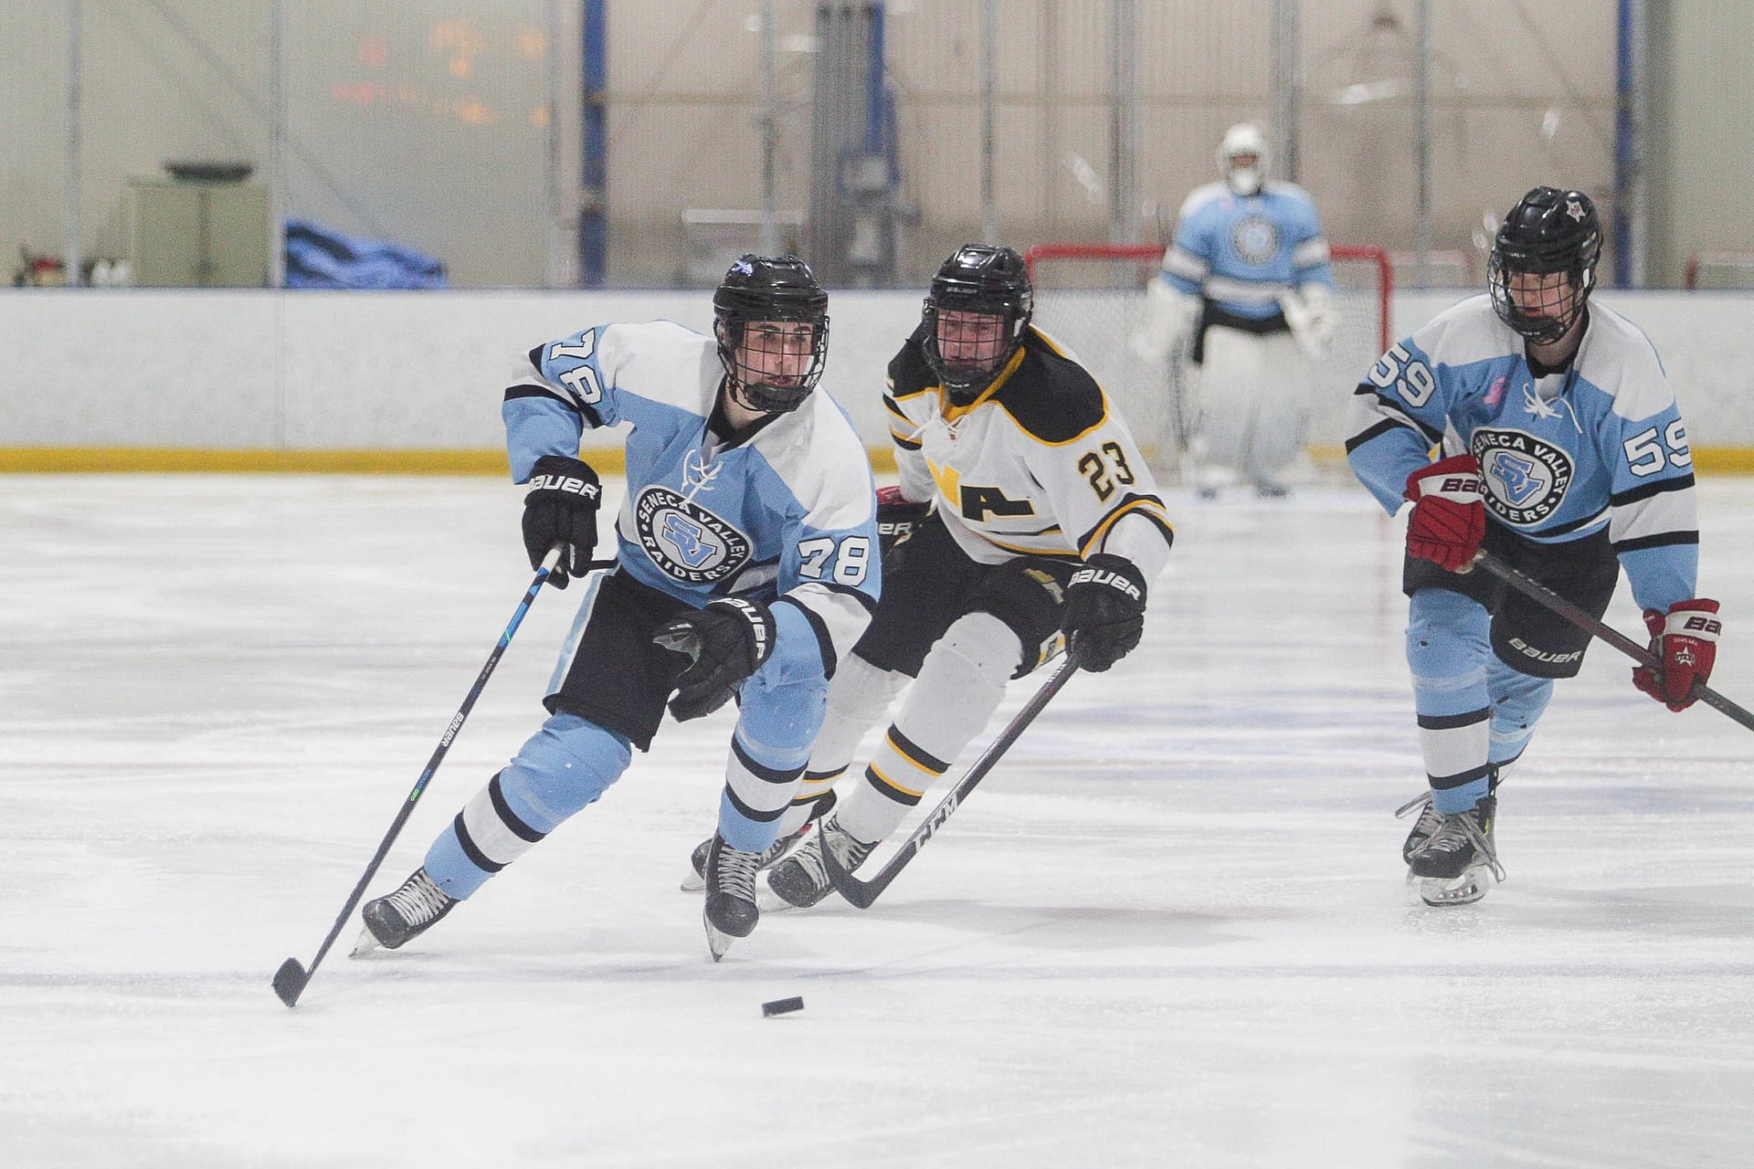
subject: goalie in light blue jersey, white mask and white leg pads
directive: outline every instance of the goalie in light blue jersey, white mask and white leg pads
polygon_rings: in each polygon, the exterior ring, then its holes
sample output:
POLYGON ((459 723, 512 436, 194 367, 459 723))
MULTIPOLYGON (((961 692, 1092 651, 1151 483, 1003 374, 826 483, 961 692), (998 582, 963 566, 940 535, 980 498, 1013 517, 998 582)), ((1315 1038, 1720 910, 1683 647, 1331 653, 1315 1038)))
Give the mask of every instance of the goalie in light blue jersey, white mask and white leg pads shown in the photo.
POLYGON ((1203 496, 1235 478, 1284 494, 1282 475, 1303 450, 1310 358, 1335 333, 1333 272, 1316 202, 1270 182, 1259 126, 1226 131, 1223 182, 1182 203, 1175 242, 1145 296, 1133 351, 1173 361, 1182 417, 1198 417, 1187 457, 1203 496), (1198 370, 1198 377, 1194 377, 1198 370))

